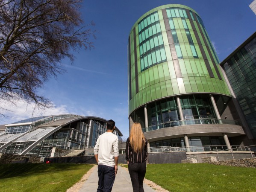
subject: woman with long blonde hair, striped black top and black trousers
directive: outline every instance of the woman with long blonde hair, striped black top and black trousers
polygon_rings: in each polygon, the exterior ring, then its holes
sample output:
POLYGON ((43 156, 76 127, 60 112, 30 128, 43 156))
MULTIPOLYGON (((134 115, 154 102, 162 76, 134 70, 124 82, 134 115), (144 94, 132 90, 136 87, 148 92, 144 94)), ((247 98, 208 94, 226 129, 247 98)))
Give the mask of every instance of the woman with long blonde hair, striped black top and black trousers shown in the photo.
POLYGON ((126 160, 132 181, 133 192, 144 192, 143 180, 146 174, 147 139, 141 124, 135 122, 126 141, 126 160))

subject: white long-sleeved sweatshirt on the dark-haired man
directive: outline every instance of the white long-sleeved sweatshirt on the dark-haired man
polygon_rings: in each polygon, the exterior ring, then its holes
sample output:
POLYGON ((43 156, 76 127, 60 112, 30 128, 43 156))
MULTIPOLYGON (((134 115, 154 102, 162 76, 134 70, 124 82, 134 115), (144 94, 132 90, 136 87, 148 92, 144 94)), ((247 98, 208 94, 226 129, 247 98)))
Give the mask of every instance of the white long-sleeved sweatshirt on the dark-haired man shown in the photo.
POLYGON ((118 157, 118 136, 111 132, 103 133, 94 146, 94 154, 98 154, 98 165, 115 166, 114 157, 118 157))

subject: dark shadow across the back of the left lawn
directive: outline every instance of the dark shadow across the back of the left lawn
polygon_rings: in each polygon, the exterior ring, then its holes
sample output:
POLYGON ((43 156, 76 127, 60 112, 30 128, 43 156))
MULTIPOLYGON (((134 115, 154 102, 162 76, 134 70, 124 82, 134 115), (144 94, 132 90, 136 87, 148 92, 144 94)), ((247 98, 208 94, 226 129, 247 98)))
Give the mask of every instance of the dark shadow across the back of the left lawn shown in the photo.
POLYGON ((9 177, 25 177, 41 173, 51 174, 66 170, 81 169, 79 164, 74 163, 27 163, 27 164, 0 164, 0 179, 9 177))

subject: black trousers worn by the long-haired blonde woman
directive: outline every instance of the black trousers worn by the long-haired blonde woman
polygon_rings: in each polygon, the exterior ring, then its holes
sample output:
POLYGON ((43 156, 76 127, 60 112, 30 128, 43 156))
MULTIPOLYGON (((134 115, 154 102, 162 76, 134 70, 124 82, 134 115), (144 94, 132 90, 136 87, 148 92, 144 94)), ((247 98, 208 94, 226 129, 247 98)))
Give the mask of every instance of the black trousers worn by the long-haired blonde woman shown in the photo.
POLYGON ((146 174, 146 163, 129 163, 128 170, 133 192, 144 192, 143 180, 146 174))

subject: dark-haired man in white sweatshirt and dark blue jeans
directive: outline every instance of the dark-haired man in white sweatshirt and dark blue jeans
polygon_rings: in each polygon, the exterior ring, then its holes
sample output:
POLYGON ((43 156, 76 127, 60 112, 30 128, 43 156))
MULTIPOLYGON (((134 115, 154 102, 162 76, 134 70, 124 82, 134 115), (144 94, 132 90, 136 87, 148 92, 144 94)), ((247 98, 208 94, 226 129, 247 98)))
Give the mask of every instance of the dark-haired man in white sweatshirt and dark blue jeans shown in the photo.
POLYGON ((115 121, 107 121, 107 132, 97 139, 94 147, 94 157, 98 164, 97 192, 111 192, 118 172, 118 136, 113 134, 115 121))

